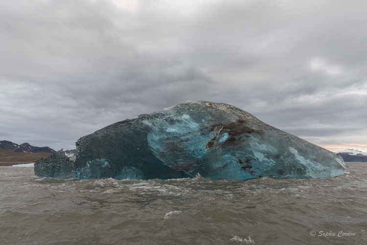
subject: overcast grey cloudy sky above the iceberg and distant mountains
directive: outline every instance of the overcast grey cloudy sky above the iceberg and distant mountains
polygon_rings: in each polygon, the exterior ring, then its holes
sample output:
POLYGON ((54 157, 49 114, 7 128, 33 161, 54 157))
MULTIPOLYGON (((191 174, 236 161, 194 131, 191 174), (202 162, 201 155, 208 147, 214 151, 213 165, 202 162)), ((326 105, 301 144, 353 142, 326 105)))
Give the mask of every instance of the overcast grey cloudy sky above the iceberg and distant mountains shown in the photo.
POLYGON ((366 0, 0 1, 0 140, 75 148, 184 100, 367 151, 366 0))

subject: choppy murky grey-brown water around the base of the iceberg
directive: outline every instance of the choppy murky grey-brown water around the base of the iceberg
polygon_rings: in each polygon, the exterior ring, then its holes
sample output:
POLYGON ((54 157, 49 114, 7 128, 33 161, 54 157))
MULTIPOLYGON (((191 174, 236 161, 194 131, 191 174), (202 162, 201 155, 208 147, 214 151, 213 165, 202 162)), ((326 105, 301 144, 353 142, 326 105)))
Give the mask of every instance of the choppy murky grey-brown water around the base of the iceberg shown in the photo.
POLYGON ((249 181, 57 180, 0 167, 0 244, 366 245, 367 163, 349 167, 249 181))

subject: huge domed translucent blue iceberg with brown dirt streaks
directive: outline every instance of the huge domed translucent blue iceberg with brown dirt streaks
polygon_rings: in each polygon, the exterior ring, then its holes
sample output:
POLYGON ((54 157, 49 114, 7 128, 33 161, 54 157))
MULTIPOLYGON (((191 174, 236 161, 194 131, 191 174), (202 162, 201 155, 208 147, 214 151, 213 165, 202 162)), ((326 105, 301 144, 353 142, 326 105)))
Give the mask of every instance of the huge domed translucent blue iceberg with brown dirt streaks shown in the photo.
MULTIPOLYGON (((348 172, 340 156, 225 103, 185 101, 80 138, 77 179, 247 180, 348 172)), ((35 164, 35 172, 36 172, 35 164)), ((49 174, 46 173, 46 174, 49 174)))

